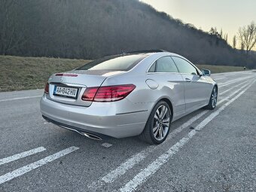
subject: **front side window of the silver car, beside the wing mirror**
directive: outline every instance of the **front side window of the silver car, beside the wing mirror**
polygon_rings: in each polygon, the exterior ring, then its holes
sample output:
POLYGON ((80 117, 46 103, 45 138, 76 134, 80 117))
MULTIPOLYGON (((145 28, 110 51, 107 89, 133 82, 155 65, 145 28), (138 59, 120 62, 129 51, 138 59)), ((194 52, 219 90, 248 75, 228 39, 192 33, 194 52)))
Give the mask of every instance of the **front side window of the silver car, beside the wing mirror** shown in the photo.
POLYGON ((197 75, 197 69, 195 69, 194 66, 192 66, 185 59, 181 59, 177 56, 172 56, 172 59, 176 63, 179 72, 188 73, 190 75, 197 75))

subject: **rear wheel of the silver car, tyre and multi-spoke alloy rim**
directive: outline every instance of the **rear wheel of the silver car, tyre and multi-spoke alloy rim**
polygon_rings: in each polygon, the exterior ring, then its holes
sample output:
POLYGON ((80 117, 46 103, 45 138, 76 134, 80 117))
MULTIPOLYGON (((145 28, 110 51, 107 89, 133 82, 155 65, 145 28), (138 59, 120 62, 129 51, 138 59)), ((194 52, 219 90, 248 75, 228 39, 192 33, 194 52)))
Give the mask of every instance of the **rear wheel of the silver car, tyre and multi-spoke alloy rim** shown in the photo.
POLYGON ((164 142, 169 134, 171 120, 172 111, 169 105, 164 101, 158 102, 151 111, 139 139, 155 145, 164 142))

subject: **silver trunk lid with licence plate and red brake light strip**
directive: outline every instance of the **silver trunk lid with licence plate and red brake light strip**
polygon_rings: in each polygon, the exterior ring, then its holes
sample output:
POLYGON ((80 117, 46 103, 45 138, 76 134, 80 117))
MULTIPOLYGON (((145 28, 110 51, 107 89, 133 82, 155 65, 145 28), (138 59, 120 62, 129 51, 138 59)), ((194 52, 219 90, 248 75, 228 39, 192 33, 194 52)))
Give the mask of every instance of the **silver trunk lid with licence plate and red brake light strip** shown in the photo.
POLYGON ((87 87, 100 87, 111 75, 123 73, 109 70, 73 70, 53 74, 49 78, 49 94, 47 99, 69 105, 90 106, 92 102, 81 99, 87 87), (69 95, 68 93, 75 93, 69 95))

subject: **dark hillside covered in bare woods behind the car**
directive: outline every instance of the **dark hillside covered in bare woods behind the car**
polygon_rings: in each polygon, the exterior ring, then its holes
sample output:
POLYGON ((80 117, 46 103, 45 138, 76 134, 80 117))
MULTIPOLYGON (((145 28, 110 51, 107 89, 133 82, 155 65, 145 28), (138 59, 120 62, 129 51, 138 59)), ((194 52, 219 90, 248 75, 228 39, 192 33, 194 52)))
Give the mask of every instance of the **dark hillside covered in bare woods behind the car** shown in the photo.
MULTIPOLYGON (((138 0, 9 0, 0 6, 0 54, 96 59, 163 49, 195 63, 244 66, 226 41, 138 0)), ((253 68, 256 56, 250 55, 253 68)))

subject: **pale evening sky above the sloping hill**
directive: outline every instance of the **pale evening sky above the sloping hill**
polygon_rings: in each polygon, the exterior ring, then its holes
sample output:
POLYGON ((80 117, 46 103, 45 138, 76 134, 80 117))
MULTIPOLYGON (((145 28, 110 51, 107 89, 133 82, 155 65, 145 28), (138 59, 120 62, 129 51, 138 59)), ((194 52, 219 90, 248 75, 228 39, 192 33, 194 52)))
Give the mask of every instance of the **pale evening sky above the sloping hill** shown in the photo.
MULTIPOLYGON (((164 11, 184 23, 191 23, 209 32, 216 27, 227 33, 232 44, 240 26, 256 23, 256 0, 141 0, 157 11, 164 11)), ((256 47, 254 47, 256 50, 256 47)))

